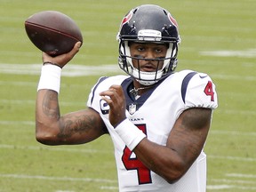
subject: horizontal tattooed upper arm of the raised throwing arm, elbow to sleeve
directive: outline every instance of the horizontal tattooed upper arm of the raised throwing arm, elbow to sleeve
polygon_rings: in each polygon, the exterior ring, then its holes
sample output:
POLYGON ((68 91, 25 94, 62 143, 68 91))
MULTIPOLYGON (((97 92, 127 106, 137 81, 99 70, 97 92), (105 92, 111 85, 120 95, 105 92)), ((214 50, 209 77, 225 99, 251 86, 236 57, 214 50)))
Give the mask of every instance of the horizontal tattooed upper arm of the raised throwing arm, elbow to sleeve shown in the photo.
MULTIPOLYGON (((55 118, 54 118, 55 119, 55 118)), ((69 113, 55 120, 36 121, 36 140, 45 145, 82 144, 106 133, 100 114, 92 108, 69 113)))

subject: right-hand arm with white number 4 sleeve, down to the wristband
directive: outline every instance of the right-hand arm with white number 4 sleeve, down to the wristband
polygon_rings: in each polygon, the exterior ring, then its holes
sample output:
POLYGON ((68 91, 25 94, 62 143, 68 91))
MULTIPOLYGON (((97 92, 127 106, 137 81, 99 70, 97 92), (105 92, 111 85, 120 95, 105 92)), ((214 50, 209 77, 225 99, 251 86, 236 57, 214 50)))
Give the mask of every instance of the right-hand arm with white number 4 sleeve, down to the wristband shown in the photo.
POLYGON ((186 110, 173 125, 166 146, 144 139, 133 150, 143 164, 170 183, 179 180, 202 152, 212 110, 218 107, 215 84, 206 74, 193 76, 183 96, 186 110))

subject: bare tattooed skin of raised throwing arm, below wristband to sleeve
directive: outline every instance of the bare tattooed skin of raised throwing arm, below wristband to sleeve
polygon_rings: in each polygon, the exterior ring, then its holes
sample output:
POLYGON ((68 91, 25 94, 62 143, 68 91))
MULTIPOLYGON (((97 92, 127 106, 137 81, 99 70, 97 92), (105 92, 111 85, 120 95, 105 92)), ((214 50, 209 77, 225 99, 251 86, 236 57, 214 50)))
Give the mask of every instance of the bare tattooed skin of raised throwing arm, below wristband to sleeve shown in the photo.
POLYGON ((58 93, 39 90, 36 100, 36 140, 46 145, 81 144, 105 132, 98 112, 92 108, 60 116, 58 93))

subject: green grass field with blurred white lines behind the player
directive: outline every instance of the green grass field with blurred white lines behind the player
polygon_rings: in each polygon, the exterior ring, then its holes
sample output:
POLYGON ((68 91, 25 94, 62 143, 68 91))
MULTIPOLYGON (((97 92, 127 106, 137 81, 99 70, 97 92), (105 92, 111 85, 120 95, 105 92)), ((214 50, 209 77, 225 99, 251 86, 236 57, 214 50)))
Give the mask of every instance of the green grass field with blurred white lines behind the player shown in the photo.
POLYGON ((178 21, 182 43, 177 70, 208 73, 217 85, 219 108, 205 147, 207 191, 256 191, 256 1, 0 0, 0 4, 0 192, 117 191, 108 136, 80 146, 47 147, 36 142, 36 86, 42 60, 28 40, 24 20, 35 12, 57 10, 82 29, 84 45, 63 69, 64 114, 85 107, 100 76, 123 73, 116 62, 116 32, 124 13, 139 4, 162 5, 178 21))

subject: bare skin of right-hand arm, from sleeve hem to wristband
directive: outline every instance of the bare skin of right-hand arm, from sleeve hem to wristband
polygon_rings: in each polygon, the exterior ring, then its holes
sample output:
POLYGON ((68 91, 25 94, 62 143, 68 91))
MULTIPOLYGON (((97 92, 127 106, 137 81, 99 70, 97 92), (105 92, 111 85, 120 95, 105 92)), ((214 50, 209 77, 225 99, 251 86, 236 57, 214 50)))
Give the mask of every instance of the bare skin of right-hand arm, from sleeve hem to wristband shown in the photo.
POLYGON ((133 152, 150 170, 173 183, 188 171, 204 148, 211 119, 212 109, 189 108, 174 124, 166 146, 143 139, 133 152))

